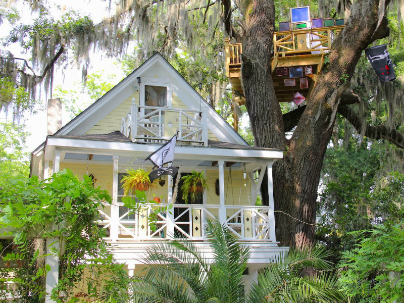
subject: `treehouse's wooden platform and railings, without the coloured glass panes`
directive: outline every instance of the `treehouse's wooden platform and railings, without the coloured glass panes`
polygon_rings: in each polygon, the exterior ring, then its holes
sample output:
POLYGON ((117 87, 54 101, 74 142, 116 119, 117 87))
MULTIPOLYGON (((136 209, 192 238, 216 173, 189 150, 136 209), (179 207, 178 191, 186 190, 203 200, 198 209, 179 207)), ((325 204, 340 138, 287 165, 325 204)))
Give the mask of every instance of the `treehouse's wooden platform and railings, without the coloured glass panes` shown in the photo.
MULTIPOLYGON (((344 25, 320 27, 313 29, 297 29, 274 33, 274 55, 271 58, 272 81, 275 94, 279 102, 291 102, 291 97, 298 91, 310 99, 310 92, 317 80, 324 64, 324 57, 330 51, 344 25), (302 67, 303 77, 308 80, 308 88, 300 88, 300 78, 294 78, 296 85, 285 86, 284 80, 289 75, 277 76, 277 68, 302 67), (312 67, 312 74, 305 73, 305 67, 312 67)), ((241 87, 241 54, 242 44, 229 44, 226 40, 226 76, 229 78, 233 90, 236 91, 235 100, 239 105, 245 103, 241 87)))

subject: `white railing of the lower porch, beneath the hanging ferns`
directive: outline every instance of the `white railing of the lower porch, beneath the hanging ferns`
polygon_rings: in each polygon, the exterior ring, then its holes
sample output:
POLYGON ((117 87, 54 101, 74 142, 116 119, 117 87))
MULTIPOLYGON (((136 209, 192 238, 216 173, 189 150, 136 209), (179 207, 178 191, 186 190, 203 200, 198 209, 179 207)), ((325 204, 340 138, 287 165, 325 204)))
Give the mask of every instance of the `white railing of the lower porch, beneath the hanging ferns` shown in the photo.
MULTIPOLYGON (((207 218, 218 217, 219 205, 183 205, 174 204, 171 213, 157 216, 155 229, 148 222, 150 212, 155 205, 144 205, 142 211, 130 213, 119 203, 121 215, 112 218, 103 209, 99 210, 102 219, 100 225, 108 230, 107 239, 118 241, 156 240, 159 238, 186 237, 191 240, 206 239, 204 223, 207 218), (115 231, 115 232, 114 232, 115 231), (114 234, 115 233, 115 234, 114 234)), ((164 206, 164 205, 161 205, 164 206)), ((225 206, 225 225, 240 240, 273 241, 270 238, 270 209, 262 206, 225 206)))

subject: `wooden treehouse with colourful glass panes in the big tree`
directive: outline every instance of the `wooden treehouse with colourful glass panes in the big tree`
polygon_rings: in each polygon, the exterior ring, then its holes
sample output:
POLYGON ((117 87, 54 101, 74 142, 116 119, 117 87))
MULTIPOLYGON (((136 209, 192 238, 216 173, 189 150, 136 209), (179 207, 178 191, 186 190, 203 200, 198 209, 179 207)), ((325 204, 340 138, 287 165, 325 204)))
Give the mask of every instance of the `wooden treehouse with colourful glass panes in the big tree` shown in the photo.
MULTIPOLYGON (((271 72, 279 102, 300 105, 310 100, 325 57, 343 28, 343 19, 311 19, 309 7, 290 9, 290 21, 281 22, 273 38, 271 72)), ((242 44, 230 44, 227 39, 225 51, 226 76, 236 92, 235 100, 243 105, 245 96, 240 81, 242 44)))

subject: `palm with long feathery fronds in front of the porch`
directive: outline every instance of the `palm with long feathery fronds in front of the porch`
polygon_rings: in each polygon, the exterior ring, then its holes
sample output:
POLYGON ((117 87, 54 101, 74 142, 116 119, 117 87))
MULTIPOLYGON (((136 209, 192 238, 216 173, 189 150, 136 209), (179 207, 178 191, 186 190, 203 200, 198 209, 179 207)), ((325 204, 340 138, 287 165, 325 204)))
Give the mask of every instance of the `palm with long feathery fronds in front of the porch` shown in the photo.
POLYGON ((341 302, 334 275, 325 270, 324 249, 289 251, 269 264, 258 284, 244 293, 242 275, 249 250, 218 220, 206 225, 212 256, 187 239, 173 239, 147 251, 147 267, 129 286, 122 299, 134 302, 246 303, 341 302), (209 258, 211 257, 211 258, 209 258), (317 270, 306 277, 304 268, 317 270))

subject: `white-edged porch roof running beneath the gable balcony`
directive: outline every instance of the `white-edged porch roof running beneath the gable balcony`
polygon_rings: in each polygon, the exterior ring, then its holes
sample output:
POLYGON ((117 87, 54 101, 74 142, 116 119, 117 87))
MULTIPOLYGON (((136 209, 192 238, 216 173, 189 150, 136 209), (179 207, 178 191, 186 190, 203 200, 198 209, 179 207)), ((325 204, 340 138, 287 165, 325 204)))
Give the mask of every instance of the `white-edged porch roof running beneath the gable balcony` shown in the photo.
MULTIPOLYGON (((58 150, 65 159, 66 153, 117 155, 121 160, 131 159, 142 162, 149 154, 161 147, 159 143, 132 142, 119 131, 109 134, 49 135, 46 141, 33 151, 32 156, 44 153, 45 161, 53 161, 58 150)), ((254 147, 229 142, 209 141, 208 146, 180 145, 175 150, 176 161, 189 166, 200 166, 211 161, 249 163, 247 169, 257 169, 262 163, 273 163, 283 158, 283 151, 273 148, 254 147), (202 162, 201 162, 202 161, 202 162), (254 164, 255 163, 255 164, 254 164)), ((73 158, 72 158, 73 159, 73 158)), ((121 161, 120 161, 121 162, 121 161)), ((132 163, 131 162, 131 163, 132 163)), ((139 163, 140 163, 139 162, 139 163)), ((122 162, 121 162, 122 163, 122 162)), ((134 162, 133 162, 134 163, 134 162)), ((213 165, 215 166, 215 165, 213 165)))

